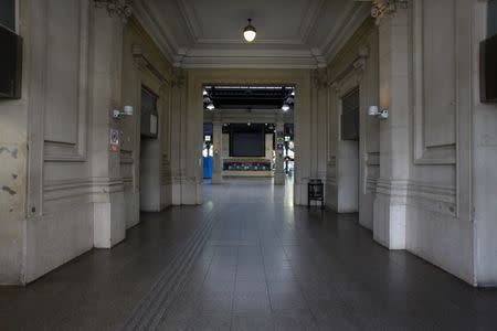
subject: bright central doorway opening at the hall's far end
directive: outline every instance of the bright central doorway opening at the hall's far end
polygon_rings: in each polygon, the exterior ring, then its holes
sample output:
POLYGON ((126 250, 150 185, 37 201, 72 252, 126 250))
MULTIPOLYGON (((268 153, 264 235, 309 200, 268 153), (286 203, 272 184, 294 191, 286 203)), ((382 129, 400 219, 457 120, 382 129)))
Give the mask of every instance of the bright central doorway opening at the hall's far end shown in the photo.
POLYGON ((204 85, 204 184, 285 185, 295 159, 294 105, 293 86, 204 85))

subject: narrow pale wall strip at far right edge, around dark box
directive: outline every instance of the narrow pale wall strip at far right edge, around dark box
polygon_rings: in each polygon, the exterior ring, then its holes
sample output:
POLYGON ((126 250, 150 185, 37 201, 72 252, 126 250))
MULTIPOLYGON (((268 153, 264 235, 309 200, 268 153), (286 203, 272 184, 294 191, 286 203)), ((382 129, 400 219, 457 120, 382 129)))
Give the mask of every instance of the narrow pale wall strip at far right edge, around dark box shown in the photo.
POLYGON ((497 105, 479 103, 478 42, 497 32, 497 1, 491 4, 494 21, 485 31, 486 3, 475 2, 473 43, 473 201, 475 282, 497 286, 497 105))

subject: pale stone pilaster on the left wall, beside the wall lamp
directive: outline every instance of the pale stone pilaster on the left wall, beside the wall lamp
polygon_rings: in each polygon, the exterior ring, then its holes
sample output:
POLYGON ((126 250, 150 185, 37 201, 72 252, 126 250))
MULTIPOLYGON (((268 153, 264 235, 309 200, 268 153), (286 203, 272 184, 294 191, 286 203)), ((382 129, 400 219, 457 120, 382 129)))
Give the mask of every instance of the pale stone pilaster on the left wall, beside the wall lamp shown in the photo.
MULTIPOLYGON (((95 9, 92 31, 92 135, 89 161, 94 190, 94 245, 110 248, 126 236, 124 183, 120 178, 120 153, 110 151, 110 129, 118 129, 113 109, 121 105, 123 22, 105 9, 95 9)), ((125 119, 124 119, 125 120, 125 119)))

